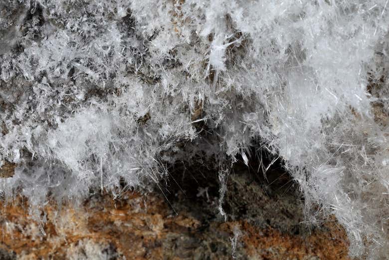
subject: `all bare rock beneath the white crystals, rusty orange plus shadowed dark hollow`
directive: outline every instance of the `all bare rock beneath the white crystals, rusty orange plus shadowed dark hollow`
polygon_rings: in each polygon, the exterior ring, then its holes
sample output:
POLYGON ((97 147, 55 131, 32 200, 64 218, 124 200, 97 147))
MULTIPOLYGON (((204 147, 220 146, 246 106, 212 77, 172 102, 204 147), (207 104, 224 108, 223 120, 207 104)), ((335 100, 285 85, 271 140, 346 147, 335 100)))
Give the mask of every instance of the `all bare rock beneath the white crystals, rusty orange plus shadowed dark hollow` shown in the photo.
POLYGON ((265 181, 236 167, 224 222, 218 187, 206 186, 216 183, 209 180, 214 174, 198 170, 183 179, 172 175, 148 194, 129 191, 116 200, 94 194, 83 205, 60 208, 50 203, 42 226, 30 220, 21 198, 2 205, 0 259, 348 259, 345 232, 334 219, 313 230, 301 224, 301 199, 286 173, 273 170, 265 181))

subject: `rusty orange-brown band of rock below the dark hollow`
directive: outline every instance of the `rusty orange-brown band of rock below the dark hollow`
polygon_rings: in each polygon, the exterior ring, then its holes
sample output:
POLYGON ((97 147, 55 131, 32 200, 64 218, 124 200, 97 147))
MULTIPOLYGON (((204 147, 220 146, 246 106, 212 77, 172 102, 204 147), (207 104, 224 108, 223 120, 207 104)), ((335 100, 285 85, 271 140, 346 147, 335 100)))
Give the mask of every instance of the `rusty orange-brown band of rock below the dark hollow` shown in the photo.
POLYGON ((46 206, 43 235, 27 209, 22 200, 1 205, 0 248, 29 259, 68 259, 85 241, 113 248, 112 259, 231 259, 234 227, 242 233, 238 259, 348 259, 347 237, 335 221, 310 235, 283 234, 244 219, 204 223, 192 212, 173 214, 159 194, 129 193, 119 200, 94 196, 76 209, 46 206))

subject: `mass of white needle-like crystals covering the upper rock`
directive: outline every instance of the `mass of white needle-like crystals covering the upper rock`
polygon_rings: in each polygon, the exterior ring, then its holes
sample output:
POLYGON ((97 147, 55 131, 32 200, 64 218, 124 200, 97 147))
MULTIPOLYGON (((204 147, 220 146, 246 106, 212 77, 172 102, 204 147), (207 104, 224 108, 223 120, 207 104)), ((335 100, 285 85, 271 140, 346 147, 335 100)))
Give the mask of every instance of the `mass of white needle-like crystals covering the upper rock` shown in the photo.
POLYGON ((39 216, 48 198, 144 188, 183 160, 212 158, 222 180, 259 144, 285 161, 309 222, 333 214, 351 256, 389 254, 388 0, 2 0, 0 12, 0 164, 17 164, 4 198, 39 216))

